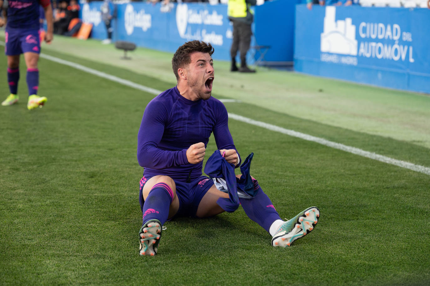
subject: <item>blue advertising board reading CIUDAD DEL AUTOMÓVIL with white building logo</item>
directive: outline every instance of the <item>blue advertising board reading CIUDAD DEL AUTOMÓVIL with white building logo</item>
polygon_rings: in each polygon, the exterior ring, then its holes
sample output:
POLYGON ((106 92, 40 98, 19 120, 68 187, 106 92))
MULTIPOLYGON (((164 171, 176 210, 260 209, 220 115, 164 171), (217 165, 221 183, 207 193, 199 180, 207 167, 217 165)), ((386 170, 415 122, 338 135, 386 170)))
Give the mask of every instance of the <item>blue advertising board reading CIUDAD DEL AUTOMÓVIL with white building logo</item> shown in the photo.
POLYGON ((295 19, 296 71, 430 93, 430 10, 297 5, 295 19))

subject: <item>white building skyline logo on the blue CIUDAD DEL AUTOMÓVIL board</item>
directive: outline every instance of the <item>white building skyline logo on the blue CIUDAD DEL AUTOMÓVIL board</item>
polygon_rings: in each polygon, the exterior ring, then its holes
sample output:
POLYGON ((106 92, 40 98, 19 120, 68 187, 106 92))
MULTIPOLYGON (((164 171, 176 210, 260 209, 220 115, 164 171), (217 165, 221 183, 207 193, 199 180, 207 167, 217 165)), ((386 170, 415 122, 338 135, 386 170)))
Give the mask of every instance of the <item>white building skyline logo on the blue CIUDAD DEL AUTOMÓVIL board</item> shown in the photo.
POLYGON ((321 52, 357 55, 356 28, 351 18, 336 21, 336 7, 327 6, 324 30, 321 33, 321 52))

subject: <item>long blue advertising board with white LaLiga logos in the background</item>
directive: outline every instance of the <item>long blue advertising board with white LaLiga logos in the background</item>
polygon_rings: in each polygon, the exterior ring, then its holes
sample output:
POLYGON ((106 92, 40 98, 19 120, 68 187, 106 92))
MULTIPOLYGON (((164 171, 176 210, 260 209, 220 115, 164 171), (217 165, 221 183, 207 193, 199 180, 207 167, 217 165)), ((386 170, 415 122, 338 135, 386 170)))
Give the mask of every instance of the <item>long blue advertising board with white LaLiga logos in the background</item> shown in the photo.
MULTIPOLYGON (((92 37, 104 39, 106 28, 101 22, 101 1, 83 5, 81 18, 93 23, 92 37)), ((188 40, 212 43, 216 59, 230 60, 232 25, 227 6, 202 3, 173 4, 171 9, 151 3, 117 4, 113 23, 114 40, 126 40, 137 46, 175 52, 188 40)))

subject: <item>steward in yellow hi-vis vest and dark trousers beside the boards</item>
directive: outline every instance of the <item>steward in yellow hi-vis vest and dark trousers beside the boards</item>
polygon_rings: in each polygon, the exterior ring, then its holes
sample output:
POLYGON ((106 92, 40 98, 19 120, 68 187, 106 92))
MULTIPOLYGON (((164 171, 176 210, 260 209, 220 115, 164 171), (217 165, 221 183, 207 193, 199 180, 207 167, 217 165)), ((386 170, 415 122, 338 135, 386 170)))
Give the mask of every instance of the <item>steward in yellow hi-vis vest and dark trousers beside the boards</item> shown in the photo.
POLYGON ((228 0, 227 15, 233 22, 233 43, 231 44, 231 69, 243 73, 255 73, 255 70, 246 65, 246 53, 251 44, 251 24, 254 15, 249 10, 250 6, 257 4, 257 0, 228 0), (237 51, 240 51, 240 68, 236 65, 237 51))

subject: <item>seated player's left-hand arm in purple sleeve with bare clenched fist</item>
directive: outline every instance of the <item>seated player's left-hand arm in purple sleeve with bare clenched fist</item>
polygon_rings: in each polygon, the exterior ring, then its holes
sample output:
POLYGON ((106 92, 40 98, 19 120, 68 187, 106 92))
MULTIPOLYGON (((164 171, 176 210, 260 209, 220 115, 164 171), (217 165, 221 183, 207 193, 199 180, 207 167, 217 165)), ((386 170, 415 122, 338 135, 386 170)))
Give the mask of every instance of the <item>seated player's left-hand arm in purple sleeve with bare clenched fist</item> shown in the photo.
POLYGON ((201 154, 199 146, 194 146, 196 144, 188 149, 179 151, 169 151, 159 148, 167 123, 168 112, 166 106, 157 100, 152 100, 148 103, 138 133, 137 159, 140 166, 151 169, 166 169, 173 166, 186 165, 191 163, 188 162, 187 158, 187 151, 190 148, 193 150, 196 149, 195 152, 191 152, 192 154, 190 154, 191 160, 201 156, 199 155, 201 154))

